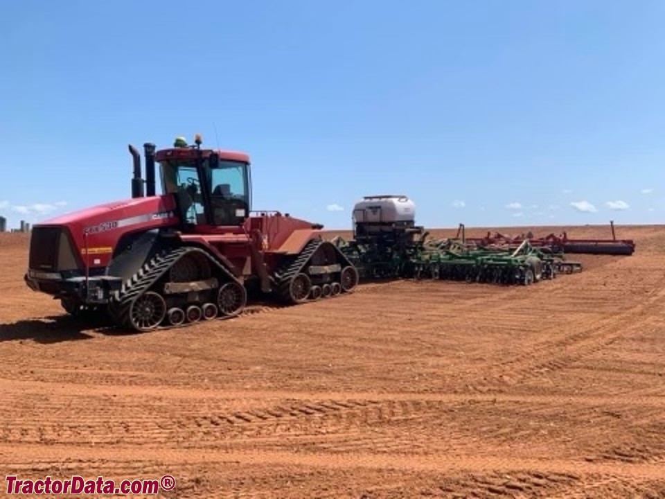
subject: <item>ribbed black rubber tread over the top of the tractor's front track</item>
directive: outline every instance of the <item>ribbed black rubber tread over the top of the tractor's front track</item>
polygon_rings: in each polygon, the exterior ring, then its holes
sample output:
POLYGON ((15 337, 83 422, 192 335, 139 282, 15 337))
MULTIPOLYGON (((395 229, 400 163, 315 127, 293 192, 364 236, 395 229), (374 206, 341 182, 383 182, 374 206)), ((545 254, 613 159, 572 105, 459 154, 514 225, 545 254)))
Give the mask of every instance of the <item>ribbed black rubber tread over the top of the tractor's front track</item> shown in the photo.
POLYGON ((148 262, 144 263, 143 266, 130 277, 130 279, 127 279, 127 281, 123 283, 121 290, 115 293, 111 308, 114 309, 112 315, 116 322, 118 322, 118 326, 122 325, 131 327, 129 312, 134 301, 143 295, 144 292, 150 290, 150 288, 154 286, 154 283, 166 274, 177 261, 184 256, 195 252, 199 252, 206 256, 206 258, 215 265, 218 270, 226 274, 229 279, 240 283, 236 277, 233 277, 233 274, 231 274, 227 268, 222 266, 218 261, 213 259, 210 254, 202 249, 195 247, 179 247, 176 249, 164 250, 153 256, 148 262))

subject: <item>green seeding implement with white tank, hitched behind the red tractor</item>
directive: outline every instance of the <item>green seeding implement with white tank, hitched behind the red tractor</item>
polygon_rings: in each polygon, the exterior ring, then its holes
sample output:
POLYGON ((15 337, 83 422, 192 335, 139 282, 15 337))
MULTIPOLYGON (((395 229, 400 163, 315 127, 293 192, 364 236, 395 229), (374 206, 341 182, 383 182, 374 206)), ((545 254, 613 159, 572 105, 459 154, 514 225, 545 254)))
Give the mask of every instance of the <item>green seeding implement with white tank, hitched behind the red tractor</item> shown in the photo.
POLYGON ((579 272, 556 247, 519 243, 484 243, 463 236, 431 239, 414 224, 414 204, 403 195, 368 196, 355 205, 353 240, 335 245, 357 268, 362 280, 443 279, 469 283, 529 285, 557 274, 579 272))

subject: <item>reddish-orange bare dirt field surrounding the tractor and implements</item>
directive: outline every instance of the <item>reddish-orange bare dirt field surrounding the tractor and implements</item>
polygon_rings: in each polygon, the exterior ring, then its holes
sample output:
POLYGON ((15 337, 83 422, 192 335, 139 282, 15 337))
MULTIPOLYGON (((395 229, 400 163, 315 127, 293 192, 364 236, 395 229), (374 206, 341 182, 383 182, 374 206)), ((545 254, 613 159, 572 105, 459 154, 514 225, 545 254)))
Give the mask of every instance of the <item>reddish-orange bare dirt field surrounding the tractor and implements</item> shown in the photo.
POLYGON ((2 234, 0 466, 170 474, 172 498, 665 497, 665 227, 617 235, 633 256, 529 288, 367 284, 126 334, 30 292, 2 234))

